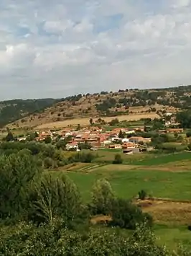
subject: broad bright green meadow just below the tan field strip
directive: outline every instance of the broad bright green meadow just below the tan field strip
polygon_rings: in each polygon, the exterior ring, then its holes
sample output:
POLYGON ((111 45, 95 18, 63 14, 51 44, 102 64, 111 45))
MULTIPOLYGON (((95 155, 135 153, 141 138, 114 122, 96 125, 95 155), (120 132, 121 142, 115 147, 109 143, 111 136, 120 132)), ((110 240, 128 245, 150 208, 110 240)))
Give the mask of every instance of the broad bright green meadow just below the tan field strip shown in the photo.
POLYGON ((128 170, 105 172, 106 167, 99 167, 98 172, 72 172, 67 175, 78 185, 84 200, 90 200, 90 191, 95 180, 106 178, 116 195, 121 198, 132 198, 139 190, 159 198, 191 200, 191 172, 160 172, 128 170), (180 193, 181 191, 181 193, 180 193))

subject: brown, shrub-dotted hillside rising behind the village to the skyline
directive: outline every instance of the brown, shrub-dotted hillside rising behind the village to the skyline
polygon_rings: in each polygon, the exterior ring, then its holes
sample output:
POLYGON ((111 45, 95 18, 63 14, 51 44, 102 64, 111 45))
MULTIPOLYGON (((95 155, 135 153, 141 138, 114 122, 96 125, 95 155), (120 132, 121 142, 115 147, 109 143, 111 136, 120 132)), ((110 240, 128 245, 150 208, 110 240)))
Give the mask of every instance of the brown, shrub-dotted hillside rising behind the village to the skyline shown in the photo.
MULTIPOLYGON (((165 89, 126 89, 100 94, 78 94, 62 100, 20 101, 6 107, 9 115, 4 123, 11 127, 36 127, 47 123, 64 122, 77 125, 81 118, 121 117, 123 120, 155 118, 161 112, 176 112, 191 107, 191 86, 165 89), (24 105, 22 105, 22 102, 24 105), (14 115, 14 108, 17 115, 14 115), (8 118, 9 116, 9 118, 8 118), (131 118, 134 117, 134 118, 131 118)), ((4 103, 5 104, 5 103, 4 103)), ((3 111, 5 111, 3 108, 3 111)), ((1 116, 2 111, 1 111, 1 116)), ((61 124, 62 125, 62 124, 61 124)), ((54 125, 51 125, 51 128, 54 125)))

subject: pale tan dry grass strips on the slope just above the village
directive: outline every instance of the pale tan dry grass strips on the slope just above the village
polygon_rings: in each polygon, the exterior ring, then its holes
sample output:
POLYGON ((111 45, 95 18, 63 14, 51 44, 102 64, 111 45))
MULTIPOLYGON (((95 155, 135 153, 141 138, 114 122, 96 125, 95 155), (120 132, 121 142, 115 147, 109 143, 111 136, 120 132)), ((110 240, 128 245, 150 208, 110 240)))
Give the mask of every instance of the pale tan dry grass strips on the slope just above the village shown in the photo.
MULTIPOLYGON (((124 120, 137 121, 137 120, 140 120, 141 118, 151 118, 151 119, 159 118, 159 115, 157 115, 157 113, 146 113, 146 114, 139 114, 139 115, 119 115, 116 117, 106 117, 103 119, 108 123, 108 122, 111 122, 111 120, 113 120, 114 118, 118 118, 119 121, 124 121, 124 120)), ((80 124, 81 126, 86 126, 90 124, 89 120, 90 118, 74 118, 74 119, 64 120, 60 122, 44 123, 42 125, 37 125, 36 128, 37 129, 64 128, 64 127, 67 127, 68 125, 76 126, 78 124, 80 124)))

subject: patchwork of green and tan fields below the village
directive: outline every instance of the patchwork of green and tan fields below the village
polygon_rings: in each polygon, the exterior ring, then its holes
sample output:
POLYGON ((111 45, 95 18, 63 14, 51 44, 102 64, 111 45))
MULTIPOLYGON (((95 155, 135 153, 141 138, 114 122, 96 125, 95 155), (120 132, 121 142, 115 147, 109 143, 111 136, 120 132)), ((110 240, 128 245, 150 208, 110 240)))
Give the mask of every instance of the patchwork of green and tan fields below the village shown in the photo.
POLYGON ((143 203, 143 210, 154 218, 159 244, 167 244, 170 249, 180 242, 187 244, 191 238, 187 230, 191 219, 190 153, 124 156, 124 163, 118 165, 109 164, 116 152, 96 154, 97 162, 54 172, 65 172, 78 185, 85 202, 90 200, 93 184, 100 178, 106 178, 121 198, 135 198, 141 189, 150 198, 160 198, 143 203))

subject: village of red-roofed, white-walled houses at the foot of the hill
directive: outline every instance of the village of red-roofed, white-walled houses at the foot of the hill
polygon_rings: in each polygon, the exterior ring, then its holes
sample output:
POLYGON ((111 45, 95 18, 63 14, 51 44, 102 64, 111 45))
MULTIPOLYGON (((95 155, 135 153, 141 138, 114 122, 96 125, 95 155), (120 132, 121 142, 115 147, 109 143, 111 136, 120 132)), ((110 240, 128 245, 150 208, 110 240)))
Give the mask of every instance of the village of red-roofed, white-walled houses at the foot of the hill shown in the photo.
MULTIPOLYGON (((178 134, 183 132, 182 128, 165 128, 158 131, 159 134, 178 134)), ((82 145, 86 146, 83 149, 90 149, 92 151, 98 149, 118 149, 124 154, 139 154, 144 151, 152 151, 154 149, 150 145, 152 138, 144 138, 144 136, 138 136, 137 133, 144 134, 144 128, 118 127, 113 128, 111 131, 106 131, 100 125, 98 127, 88 126, 80 129, 68 127, 59 131, 35 131, 34 141, 54 142, 57 140, 67 140, 65 145, 67 151, 80 151, 82 145)), ((17 141, 27 141, 27 136, 18 137, 17 141)))

